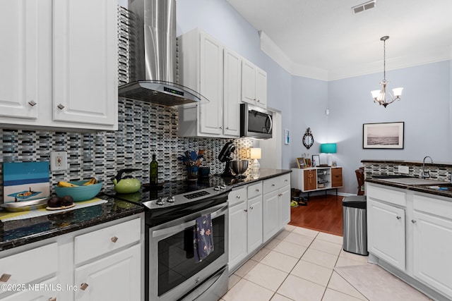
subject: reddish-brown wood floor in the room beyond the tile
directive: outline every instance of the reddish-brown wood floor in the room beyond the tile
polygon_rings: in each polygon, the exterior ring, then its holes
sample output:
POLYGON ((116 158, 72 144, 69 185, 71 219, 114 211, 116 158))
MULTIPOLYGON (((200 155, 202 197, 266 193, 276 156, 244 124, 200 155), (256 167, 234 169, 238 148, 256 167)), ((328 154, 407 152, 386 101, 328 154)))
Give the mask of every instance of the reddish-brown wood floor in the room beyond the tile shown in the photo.
POLYGON ((290 207, 290 225, 343 235, 341 196, 309 197, 307 206, 290 207))

